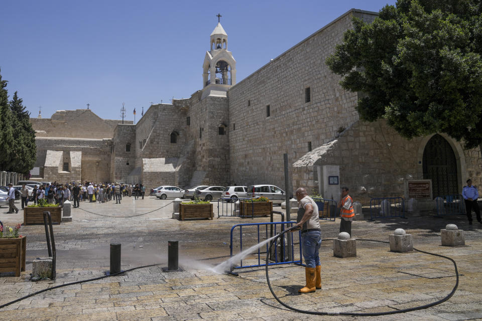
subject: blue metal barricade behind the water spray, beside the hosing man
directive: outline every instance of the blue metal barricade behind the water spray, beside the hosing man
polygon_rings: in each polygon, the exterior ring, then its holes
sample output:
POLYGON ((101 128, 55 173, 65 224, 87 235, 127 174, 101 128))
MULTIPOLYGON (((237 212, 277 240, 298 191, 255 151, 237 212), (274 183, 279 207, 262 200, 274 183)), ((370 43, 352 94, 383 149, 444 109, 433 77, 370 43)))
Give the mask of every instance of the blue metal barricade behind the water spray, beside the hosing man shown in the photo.
MULTIPOLYGON (((275 236, 279 232, 284 231, 285 228, 292 227, 293 224, 296 224, 296 222, 248 223, 248 224, 234 225, 231 228, 231 236, 230 236, 230 244, 229 244, 230 256, 233 257, 233 250, 235 245, 238 245, 239 253, 243 252, 243 248, 248 249, 249 247, 255 244, 259 244, 265 240, 268 240, 269 238, 275 236), (268 227, 270 227, 270 229, 268 229, 268 227), (236 228, 239 229, 239 240, 238 240, 239 244, 233 243, 233 233, 236 228), (268 230, 270 230, 270 232, 268 232, 268 230)), ((298 231, 298 233, 293 232, 292 239, 293 241, 291 246, 288 244, 285 237, 281 237, 278 239, 278 244, 276 244, 276 246, 273 246, 272 253, 270 253, 270 258, 272 263, 268 263, 268 265, 291 264, 291 263, 303 265, 301 262, 301 255, 302 255, 301 246, 299 246, 300 244, 299 240, 301 239, 301 231, 298 231), (295 246, 294 246, 295 243, 297 243, 299 247, 299 256, 295 255, 298 253, 298 249, 295 250, 295 246), (292 260, 288 259, 288 257, 290 256, 293 258, 292 260)), ((266 263, 262 262, 264 261, 264 258, 263 259, 261 258, 261 254, 267 253, 269 246, 270 246, 270 242, 262 246, 263 248, 266 248, 264 252, 261 251, 261 248, 258 248, 257 250, 258 264, 243 265, 243 258, 241 258, 239 260, 239 265, 233 266, 232 268, 238 269, 238 268, 245 268, 245 267, 265 266, 266 263)))

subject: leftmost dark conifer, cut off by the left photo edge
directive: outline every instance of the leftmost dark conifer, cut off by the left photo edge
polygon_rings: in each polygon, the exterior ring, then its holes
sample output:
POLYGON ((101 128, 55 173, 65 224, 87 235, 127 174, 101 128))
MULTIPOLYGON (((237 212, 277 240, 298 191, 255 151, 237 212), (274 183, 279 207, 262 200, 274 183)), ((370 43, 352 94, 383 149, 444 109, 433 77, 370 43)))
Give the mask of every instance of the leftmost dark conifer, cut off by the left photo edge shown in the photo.
POLYGON ((9 108, 7 81, 0 74, 0 170, 10 171, 15 164, 13 115, 9 108))

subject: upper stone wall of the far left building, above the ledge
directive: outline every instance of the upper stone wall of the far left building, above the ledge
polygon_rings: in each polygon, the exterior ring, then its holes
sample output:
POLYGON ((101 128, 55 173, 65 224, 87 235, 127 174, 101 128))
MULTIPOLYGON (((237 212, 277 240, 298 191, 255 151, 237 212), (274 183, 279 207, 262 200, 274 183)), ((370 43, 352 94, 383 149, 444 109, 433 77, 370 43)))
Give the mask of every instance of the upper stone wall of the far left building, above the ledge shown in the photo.
MULTIPOLYGON (((91 109, 57 110, 51 118, 30 118, 37 137, 112 138, 121 120, 102 119, 91 109)), ((124 121, 132 124, 131 121, 124 121)))

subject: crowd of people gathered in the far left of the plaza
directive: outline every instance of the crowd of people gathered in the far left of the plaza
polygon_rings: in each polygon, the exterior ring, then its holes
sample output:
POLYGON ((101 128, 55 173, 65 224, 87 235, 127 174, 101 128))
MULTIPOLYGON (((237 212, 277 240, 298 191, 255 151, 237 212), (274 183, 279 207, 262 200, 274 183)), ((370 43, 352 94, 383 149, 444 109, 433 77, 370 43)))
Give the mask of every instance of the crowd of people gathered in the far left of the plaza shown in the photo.
POLYGON ((20 190, 22 198, 22 209, 28 205, 29 200, 35 204, 39 200, 47 200, 49 204, 58 204, 63 206, 66 200, 73 201, 73 207, 77 208, 80 202, 89 203, 105 203, 115 200, 116 204, 120 204, 122 197, 132 197, 134 199, 142 198, 146 193, 146 187, 142 184, 123 184, 123 183, 91 183, 77 184, 75 182, 59 184, 54 182, 52 184, 35 186, 32 192, 27 189, 25 184, 20 190))

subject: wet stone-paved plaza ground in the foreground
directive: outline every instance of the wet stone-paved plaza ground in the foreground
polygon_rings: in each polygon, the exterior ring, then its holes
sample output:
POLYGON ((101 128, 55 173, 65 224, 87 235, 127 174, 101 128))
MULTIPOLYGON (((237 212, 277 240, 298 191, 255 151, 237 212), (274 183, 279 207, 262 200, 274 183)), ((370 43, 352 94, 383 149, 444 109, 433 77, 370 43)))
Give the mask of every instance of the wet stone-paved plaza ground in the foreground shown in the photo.
MULTIPOLYGON (((482 225, 471 228, 464 218, 411 217, 353 222, 358 239, 388 241, 396 228, 411 233, 418 249, 447 255, 458 266, 460 283, 446 302, 423 310, 378 317, 314 316, 287 310, 272 297, 264 268, 238 270, 239 277, 216 274, 210 268, 229 255, 229 230, 238 223, 268 218, 178 221, 171 219, 171 200, 123 199, 122 205, 82 203, 73 221, 54 226, 57 278, 31 282, 32 260, 46 256, 43 226, 24 226, 27 267, 21 277, 0 274, 0 304, 53 285, 103 275, 109 269, 109 243, 122 243, 123 269, 161 263, 82 284, 47 291, 0 309, 1 320, 466 320, 482 319, 482 225), (163 209, 137 217, 128 217, 163 209), (466 230, 466 246, 440 246, 440 229, 455 223, 466 230), (167 241, 179 240, 182 272, 163 272, 167 241)), ((6 225, 22 222, 21 213, 4 214, 6 225)), ((336 237, 339 221, 323 222, 323 238, 336 237)), ((244 239, 255 231, 245 228, 244 239)), ((247 242, 250 243, 250 242, 247 242)), ((294 265, 270 268, 270 279, 282 300, 294 307, 327 312, 370 312, 404 309, 436 301, 455 283, 450 261, 427 254, 392 253, 387 244, 357 242, 357 257, 333 257, 332 241, 323 242, 322 289, 298 295, 304 269, 294 265)), ((244 264, 256 264, 249 256, 244 264)))

